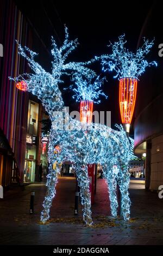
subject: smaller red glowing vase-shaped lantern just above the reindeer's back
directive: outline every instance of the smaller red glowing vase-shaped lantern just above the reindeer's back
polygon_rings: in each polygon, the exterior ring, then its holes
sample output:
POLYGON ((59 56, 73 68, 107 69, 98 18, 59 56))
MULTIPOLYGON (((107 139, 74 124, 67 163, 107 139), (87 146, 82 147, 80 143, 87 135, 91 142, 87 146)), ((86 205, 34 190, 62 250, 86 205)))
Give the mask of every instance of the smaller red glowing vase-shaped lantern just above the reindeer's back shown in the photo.
POLYGON ((80 101, 80 122, 91 123, 93 112, 93 101, 80 101))

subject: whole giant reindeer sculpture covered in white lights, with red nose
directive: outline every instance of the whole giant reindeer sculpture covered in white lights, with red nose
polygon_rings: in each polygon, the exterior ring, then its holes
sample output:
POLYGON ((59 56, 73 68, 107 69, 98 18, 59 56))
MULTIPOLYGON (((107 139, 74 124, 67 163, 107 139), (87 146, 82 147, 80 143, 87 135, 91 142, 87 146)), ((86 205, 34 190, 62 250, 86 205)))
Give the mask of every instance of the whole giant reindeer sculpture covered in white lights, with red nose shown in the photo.
POLYGON ((45 223, 49 218, 49 210, 56 193, 55 186, 58 180, 57 175, 60 172, 60 164, 67 160, 72 162, 76 172, 82 198, 84 222, 87 225, 92 224, 87 164, 93 163, 99 163, 103 166, 113 216, 117 216, 116 189, 118 182, 121 191, 122 215, 124 220, 128 220, 130 208, 128 162, 131 157, 131 147, 126 132, 121 126, 116 131, 108 126, 93 123, 83 128, 80 121, 70 118, 65 110, 58 87, 59 83, 62 82, 61 76, 64 74, 72 75, 73 72, 85 77, 96 74, 87 68, 85 63, 65 63, 68 54, 78 45, 77 39, 68 40, 67 28, 65 28, 63 45, 58 48, 53 38, 52 45, 54 60, 51 74, 35 62, 35 52, 18 45, 19 54, 27 59, 34 74, 23 74, 16 78, 10 77, 20 86, 23 84, 24 90, 36 95, 41 100, 52 121, 48 148, 47 194, 43 202, 41 221, 45 223), (56 145, 59 147, 55 147, 56 145), (57 166, 55 170, 53 169, 54 163, 57 166))

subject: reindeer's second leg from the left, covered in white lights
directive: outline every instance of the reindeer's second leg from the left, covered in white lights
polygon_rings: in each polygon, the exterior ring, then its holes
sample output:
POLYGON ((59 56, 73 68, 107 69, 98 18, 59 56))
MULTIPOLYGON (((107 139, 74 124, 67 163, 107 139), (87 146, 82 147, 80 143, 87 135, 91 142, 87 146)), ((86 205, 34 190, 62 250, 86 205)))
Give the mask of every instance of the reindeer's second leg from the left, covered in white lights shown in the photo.
POLYGON ((81 166, 79 164, 76 167, 76 174, 80 186, 80 196, 83 205, 83 220, 86 225, 92 225, 90 181, 87 172, 87 166, 81 166))

